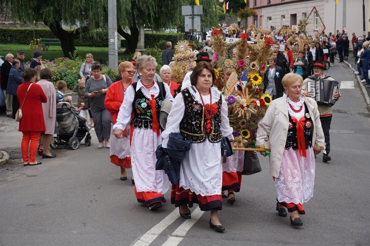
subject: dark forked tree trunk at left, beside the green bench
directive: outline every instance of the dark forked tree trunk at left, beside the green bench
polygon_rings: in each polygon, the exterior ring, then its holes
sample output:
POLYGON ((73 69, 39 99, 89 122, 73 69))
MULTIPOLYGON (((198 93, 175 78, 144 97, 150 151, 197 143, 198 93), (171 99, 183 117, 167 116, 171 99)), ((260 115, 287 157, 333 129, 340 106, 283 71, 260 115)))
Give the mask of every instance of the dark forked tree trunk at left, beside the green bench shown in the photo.
POLYGON ((74 47, 74 38, 76 38, 79 34, 78 29, 74 32, 66 31, 62 28, 59 22, 52 22, 52 23, 44 22, 44 23, 46 26, 49 27, 51 32, 57 38, 59 38, 61 42, 64 57, 67 57, 70 59, 73 57, 76 57, 78 54, 76 52, 76 48, 74 47))

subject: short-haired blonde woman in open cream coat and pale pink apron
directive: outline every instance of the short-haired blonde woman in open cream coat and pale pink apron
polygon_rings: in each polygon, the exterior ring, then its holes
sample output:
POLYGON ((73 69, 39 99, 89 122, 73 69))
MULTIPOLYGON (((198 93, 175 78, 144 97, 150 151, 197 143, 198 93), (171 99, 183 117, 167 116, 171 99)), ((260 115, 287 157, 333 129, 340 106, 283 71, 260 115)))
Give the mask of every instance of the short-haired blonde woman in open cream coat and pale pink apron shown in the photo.
MULTIPOLYGON (((313 196, 315 155, 325 149, 317 103, 301 95, 302 77, 283 78, 286 94, 273 100, 258 124, 256 148, 271 149, 270 173, 277 191, 279 216, 291 213, 293 226, 301 226, 302 204, 313 196)), ((264 152, 261 152, 265 156, 264 152)))

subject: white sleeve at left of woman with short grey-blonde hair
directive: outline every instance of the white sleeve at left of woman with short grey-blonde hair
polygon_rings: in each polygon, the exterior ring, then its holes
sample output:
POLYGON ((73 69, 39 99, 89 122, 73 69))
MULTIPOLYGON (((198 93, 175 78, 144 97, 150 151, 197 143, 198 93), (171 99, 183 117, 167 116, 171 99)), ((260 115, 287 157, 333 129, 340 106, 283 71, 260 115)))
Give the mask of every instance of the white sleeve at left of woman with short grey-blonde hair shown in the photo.
POLYGON ((127 124, 130 122, 132 113, 132 102, 134 101, 135 94, 132 86, 128 87, 125 92, 125 99, 119 108, 117 123, 113 125, 113 130, 126 129, 127 124))

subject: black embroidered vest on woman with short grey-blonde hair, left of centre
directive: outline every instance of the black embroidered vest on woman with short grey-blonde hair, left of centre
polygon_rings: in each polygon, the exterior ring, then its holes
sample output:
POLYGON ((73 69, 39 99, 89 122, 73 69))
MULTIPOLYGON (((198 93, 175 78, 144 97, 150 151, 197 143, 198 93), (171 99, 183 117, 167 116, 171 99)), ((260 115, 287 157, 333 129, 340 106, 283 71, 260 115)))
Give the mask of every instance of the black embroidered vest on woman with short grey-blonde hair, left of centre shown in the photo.
MULTIPOLYGON (((158 87, 160 86, 157 83, 158 87)), ((166 90, 164 89, 163 83, 161 84, 163 86, 163 92, 166 93, 166 90)), ((149 105, 149 101, 151 98, 148 98, 142 90, 136 91, 137 83, 134 83, 131 85, 134 90, 134 101, 132 102, 132 111, 134 114, 134 118, 131 120, 131 125, 133 125, 134 128, 152 128, 153 125, 153 112, 151 112, 151 107, 149 105)), ((145 89, 144 89, 145 90, 145 89)), ((166 94, 163 95, 164 98, 166 97, 166 94)), ((154 100, 156 101, 156 111, 155 114, 157 114, 157 121, 159 125, 159 113, 162 105, 162 98, 160 93, 156 97, 154 97, 154 100)))

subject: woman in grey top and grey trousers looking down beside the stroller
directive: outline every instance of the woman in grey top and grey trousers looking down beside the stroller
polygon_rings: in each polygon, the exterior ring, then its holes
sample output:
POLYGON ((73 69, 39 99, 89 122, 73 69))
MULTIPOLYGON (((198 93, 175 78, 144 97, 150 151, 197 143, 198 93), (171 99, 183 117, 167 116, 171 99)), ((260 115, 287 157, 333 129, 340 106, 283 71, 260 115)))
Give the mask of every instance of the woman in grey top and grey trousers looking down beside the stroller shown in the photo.
POLYGON ((93 63, 91 76, 86 81, 85 96, 90 98, 91 114, 94 120, 95 133, 98 137, 98 148, 103 148, 103 141, 106 148, 111 148, 109 138, 111 135, 111 114, 104 106, 108 87, 112 84, 108 75, 102 75, 102 65, 93 63))

